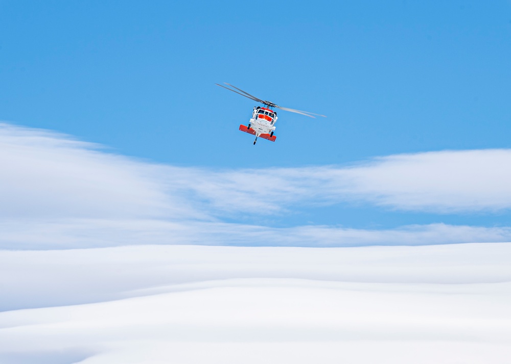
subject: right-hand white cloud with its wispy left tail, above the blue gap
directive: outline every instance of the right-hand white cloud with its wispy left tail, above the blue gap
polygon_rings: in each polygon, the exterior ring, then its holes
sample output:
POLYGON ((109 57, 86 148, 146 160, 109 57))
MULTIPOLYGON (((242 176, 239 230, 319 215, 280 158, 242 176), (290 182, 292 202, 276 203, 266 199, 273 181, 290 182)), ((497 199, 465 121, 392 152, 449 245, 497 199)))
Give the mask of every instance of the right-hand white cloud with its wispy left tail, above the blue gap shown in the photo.
POLYGON ((438 151, 391 155, 350 167, 210 173, 193 188, 223 210, 249 206, 278 212, 300 203, 365 201, 436 213, 499 211, 511 208, 509 164, 508 149, 438 151), (254 205, 254 198, 260 205, 254 205))

